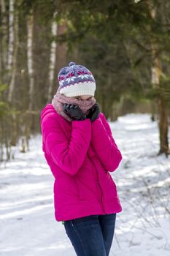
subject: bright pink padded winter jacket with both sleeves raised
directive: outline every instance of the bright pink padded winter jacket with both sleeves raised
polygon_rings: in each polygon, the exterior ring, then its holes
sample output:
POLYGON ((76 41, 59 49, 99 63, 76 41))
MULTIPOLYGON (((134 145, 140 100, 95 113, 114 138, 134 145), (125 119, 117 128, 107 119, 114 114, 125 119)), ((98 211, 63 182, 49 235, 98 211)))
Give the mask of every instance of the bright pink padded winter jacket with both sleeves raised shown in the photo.
POLYGON ((122 155, 103 113, 93 122, 67 121, 52 104, 41 111, 42 150, 55 177, 55 219, 122 211, 109 172, 122 155))

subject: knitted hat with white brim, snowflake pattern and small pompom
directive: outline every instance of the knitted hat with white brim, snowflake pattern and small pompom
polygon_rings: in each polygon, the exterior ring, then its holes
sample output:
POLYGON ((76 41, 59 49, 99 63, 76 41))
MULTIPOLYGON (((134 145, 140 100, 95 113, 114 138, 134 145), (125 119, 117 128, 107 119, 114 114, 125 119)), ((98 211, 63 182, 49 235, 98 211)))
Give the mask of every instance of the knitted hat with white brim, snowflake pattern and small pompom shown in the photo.
POLYGON ((58 73, 60 94, 66 97, 79 95, 94 96, 96 90, 96 82, 92 73, 81 65, 70 62, 68 67, 63 67, 58 73))

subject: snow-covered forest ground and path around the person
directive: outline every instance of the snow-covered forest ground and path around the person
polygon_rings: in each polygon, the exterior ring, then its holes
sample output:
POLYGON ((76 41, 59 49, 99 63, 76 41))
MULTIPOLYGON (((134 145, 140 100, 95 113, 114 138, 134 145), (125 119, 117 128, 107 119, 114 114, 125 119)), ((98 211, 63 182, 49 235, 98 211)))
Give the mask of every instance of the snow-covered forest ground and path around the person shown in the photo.
MULTIPOLYGON (((123 154, 111 173, 123 211, 117 214, 110 256, 170 255, 170 157, 157 157, 158 124, 148 114, 128 114, 110 123, 123 154)), ((53 175, 42 137, 26 154, 0 165, 0 255, 75 256, 53 208, 53 175)))

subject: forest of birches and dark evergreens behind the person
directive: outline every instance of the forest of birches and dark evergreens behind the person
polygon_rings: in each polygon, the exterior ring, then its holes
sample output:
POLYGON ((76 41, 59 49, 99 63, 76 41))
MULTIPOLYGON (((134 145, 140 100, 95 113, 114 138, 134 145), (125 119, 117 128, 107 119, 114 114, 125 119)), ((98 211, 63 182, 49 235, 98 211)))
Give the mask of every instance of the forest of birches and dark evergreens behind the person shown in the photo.
POLYGON ((88 67, 109 121, 150 113, 170 154, 170 1, 1 0, 0 162, 29 149, 69 61, 88 67))

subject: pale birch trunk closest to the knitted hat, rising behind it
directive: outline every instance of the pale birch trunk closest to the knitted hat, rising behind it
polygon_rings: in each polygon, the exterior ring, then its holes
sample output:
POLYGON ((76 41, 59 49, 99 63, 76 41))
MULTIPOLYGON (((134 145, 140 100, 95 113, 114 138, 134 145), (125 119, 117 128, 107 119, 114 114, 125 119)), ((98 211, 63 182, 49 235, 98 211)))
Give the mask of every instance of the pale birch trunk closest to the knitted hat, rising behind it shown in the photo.
POLYGON ((48 86, 48 96, 47 96, 48 101, 50 101, 50 99, 52 98, 53 83, 55 78, 55 60, 56 60, 56 48, 57 48, 55 39, 57 36, 57 30, 58 30, 58 24, 55 21, 56 15, 57 15, 57 12, 55 12, 53 15, 53 22, 51 26, 51 34, 53 36, 53 41, 51 43, 51 49, 50 49, 49 86, 48 86))

